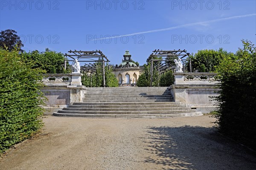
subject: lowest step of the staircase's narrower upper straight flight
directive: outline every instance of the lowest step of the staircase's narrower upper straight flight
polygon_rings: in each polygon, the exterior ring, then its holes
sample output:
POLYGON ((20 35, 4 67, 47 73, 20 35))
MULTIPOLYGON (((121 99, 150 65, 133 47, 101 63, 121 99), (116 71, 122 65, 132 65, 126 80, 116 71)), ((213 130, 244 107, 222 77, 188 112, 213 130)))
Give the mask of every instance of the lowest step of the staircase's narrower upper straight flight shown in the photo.
MULTIPOLYGON (((135 102, 134 99, 113 100, 83 100, 83 102, 135 102)), ((136 99, 136 102, 173 102, 173 99, 136 99)))

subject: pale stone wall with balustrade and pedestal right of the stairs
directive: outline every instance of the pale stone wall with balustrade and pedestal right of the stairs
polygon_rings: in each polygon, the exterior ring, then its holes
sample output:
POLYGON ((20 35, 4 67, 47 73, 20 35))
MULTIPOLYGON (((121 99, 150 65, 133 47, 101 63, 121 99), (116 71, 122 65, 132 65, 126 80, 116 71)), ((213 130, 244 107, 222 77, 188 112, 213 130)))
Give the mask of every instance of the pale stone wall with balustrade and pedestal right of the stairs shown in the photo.
POLYGON ((216 101, 215 73, 175 73, 175 83, 170 86, 175 102, 187 104, 202 113, 214 111, 216 101))

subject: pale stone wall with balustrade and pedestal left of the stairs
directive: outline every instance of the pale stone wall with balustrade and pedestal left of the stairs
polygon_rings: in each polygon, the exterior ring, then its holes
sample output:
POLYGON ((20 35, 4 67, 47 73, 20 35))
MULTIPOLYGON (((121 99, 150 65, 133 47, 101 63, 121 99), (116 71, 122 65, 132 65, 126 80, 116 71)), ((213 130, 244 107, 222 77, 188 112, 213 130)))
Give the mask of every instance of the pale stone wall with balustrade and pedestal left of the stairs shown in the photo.
POLYGON ((42 82, 45 87, 41 89, 47 98, 43 106, 45 114, 52 114, 61 108, 82 102, 86 87, 81 85, 82 74, 44 74, 42 82))

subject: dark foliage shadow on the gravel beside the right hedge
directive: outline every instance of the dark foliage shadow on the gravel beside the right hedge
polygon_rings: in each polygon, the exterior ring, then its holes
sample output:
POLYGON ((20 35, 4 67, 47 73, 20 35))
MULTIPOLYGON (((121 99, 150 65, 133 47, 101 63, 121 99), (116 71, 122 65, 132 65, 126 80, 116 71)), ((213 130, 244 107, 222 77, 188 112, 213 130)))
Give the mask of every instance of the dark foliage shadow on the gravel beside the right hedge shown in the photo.
MULTIPOLYGON (((175 170, 255 170, 256 157, 214 127, 147 127, 145 162, 175 170)), ((152 165, 153 166, 153 165, 152 165)))

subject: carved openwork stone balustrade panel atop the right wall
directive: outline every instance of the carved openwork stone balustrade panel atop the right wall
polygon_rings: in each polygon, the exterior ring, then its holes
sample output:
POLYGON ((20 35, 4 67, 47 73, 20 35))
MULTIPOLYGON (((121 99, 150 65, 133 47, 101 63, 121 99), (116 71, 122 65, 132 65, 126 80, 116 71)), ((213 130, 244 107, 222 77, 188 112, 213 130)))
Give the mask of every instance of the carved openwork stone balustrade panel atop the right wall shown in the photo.
POLYGON ((216 81, 216 73, 183 73, 184 81, 216 81))

